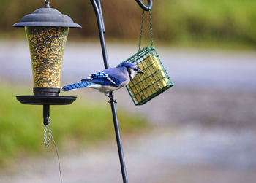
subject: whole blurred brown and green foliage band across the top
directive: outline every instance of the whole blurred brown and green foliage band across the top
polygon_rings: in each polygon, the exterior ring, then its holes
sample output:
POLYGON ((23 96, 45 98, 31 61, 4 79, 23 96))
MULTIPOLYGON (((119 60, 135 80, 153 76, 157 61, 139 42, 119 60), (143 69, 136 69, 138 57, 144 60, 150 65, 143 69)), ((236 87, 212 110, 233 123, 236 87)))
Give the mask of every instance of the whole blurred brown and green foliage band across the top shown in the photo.
MULTIPOLYGON (((43 1, 0 0, 0 4, 1 33, 14 34, 16 31, 11 28, 12 24, 23 15, 42 7, 43 1)), ((71 37, 98 36, 96 18, 89 0, 52 0, 50 5, 83 26, 82 29, 72 29, 71 37)), ((154 39, 166 44, 230 42, 255 47, 255 9, 255 0, 153 1, 154 39)), ((142 10, 135 0, 102 0, 102 11, 107 38, 138 39, 142 10)))

